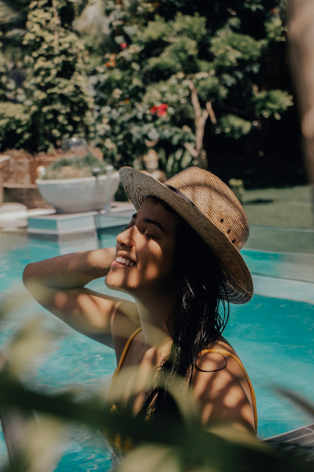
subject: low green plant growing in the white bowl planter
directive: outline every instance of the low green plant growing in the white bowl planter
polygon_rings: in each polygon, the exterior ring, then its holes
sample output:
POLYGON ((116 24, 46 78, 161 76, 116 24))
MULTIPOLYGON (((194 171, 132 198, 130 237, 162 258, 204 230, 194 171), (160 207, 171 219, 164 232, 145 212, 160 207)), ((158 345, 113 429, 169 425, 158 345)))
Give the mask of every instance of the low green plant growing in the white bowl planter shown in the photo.
POLYGON ((105 161, 100 161, 94 154, 89 152, 85 157, 61 157, 46 168, 46 173, 41 176, 44 180, 91 177, 94 169, 97 174, 105 174, 105 161))

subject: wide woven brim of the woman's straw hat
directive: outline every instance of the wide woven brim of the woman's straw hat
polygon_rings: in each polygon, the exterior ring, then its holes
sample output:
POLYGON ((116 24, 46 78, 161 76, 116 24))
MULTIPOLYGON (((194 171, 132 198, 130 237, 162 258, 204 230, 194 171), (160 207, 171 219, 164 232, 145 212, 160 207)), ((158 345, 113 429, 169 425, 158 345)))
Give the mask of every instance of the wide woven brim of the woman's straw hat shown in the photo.
POLYGON ((148 196, 155 196, 168 203, 201 236, 220 262, 225 274, 223 299, 232 303, 247 303, 253 295, 250 271, 242 255, 229 239, 196 207, 185 201, 166 185, 131 167, 119 170, 122 185, 136 210, 148 196))

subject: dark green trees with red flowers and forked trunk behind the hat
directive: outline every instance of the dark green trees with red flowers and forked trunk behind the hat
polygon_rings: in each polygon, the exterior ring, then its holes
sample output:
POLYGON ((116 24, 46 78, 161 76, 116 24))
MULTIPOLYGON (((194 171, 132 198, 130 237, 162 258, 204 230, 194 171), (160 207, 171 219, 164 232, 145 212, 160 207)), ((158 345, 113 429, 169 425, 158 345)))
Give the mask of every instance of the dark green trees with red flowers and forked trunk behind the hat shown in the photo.
POLYGON ((241 141, 288 110, 269 67, 284 62, 279 0, 231 3, 105 2, 111 50, 92 81, 106 154, 130 164, 146 143, 174 173, 206 165, 204 147, 210 162, 215 136, 241 141))

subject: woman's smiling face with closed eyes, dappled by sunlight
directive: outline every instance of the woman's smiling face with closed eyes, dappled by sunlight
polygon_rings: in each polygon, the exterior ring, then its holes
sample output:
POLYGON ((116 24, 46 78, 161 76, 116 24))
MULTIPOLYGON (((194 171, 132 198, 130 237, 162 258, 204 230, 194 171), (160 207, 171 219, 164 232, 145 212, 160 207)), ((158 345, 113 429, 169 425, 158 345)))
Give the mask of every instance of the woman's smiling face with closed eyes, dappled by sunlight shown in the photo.
POLYGON ((126 230, 117 236, 117 259, 105 278, 106 286, 135 297, 173 290, 178 221, 179 216, 161 203, 153 198, 145 200, 126 230))

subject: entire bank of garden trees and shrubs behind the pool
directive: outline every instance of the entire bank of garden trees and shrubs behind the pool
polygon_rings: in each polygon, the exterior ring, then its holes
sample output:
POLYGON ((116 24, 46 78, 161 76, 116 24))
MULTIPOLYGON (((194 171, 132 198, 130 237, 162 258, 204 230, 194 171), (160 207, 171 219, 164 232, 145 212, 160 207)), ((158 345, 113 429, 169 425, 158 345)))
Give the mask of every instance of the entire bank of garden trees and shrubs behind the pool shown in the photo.
POLYGON ((25 97, 8 93, 1 69, 0 99, 28 110, 33 151, 75 134, 94 139, 118 167, 141 168, 149 147, 169 175, 200 163, 205 151, 210 163, 218 135, 220 142, 262 135, 292 105, 280 81, 280 7, 279 0, 32 1, 21 44, 30 51, 25 97))

